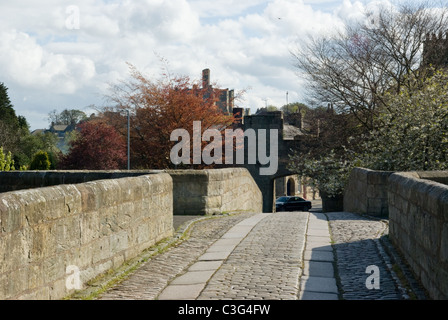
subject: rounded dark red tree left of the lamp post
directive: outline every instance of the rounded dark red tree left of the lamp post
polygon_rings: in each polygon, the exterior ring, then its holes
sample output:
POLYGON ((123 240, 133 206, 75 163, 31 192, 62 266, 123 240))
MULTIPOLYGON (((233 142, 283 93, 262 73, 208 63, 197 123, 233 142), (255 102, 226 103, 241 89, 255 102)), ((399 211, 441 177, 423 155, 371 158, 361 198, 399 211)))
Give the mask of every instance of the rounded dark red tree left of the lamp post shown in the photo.
POLYGON ((61 169, 117 170, 126 163, 126 143, 114 127, 102 121, 83 122, 79 134, 71 141, 61 169))

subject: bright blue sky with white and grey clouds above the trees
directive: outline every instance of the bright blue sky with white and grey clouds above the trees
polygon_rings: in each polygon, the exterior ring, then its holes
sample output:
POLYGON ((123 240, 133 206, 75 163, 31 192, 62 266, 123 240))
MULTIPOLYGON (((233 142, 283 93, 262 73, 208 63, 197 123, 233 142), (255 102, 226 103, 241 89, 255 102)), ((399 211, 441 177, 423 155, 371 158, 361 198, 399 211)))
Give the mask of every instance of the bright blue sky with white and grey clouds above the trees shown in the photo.
MULTIPOLYGON (((384 0, 383 0, 384 1, 384 0)), ((237 105, 305 102, 291 51, 359 19, 370 0, 0 0, 0 82, 31 130, 52 110, 90 115, 127 63, 245 91, 237 105)))

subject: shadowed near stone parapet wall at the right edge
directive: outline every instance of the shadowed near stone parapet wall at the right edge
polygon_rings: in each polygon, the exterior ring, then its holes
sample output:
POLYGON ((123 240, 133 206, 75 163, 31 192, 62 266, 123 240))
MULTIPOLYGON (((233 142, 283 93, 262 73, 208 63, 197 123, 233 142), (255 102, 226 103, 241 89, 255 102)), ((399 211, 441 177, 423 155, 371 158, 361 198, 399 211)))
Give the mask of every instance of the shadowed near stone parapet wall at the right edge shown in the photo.
POLYGON ((389 236, 433 299, 448 299, 448 172, 389 178, 389 236))

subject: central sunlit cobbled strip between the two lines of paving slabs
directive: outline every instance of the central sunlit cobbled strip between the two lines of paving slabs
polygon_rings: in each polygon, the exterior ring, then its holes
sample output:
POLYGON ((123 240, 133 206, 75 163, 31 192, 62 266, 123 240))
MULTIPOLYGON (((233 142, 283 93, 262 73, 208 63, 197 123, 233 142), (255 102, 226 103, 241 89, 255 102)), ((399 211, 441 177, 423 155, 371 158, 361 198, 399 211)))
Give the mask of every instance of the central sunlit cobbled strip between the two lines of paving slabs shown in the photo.
POLYGON ((295 300, 308 213, 276 213, 258 223, 199 299, 295 300))

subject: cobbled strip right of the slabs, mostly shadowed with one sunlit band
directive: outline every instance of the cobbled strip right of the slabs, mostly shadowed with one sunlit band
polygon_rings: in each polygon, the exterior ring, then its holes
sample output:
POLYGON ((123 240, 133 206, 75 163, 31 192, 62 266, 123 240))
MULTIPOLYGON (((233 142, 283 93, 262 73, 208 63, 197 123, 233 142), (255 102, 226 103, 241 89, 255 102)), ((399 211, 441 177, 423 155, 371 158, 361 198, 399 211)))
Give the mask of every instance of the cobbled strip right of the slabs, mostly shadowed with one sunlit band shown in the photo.
MULTIPOLYGON (((345 300, 400 300, 407 298, 398 279, 391 272, 391 263, 379 238, 388 232, 385 221, 376 221, 352 213, 328 213, 330 232, 334 241, 337 273, 342 298, 345 300), (379 288, 368 289, 367 270, 379 270, 379 288)), ((370 278, 372 279, 372 278, 370 278)), ((372 283, 372 282, 370 282, 372 283)))

